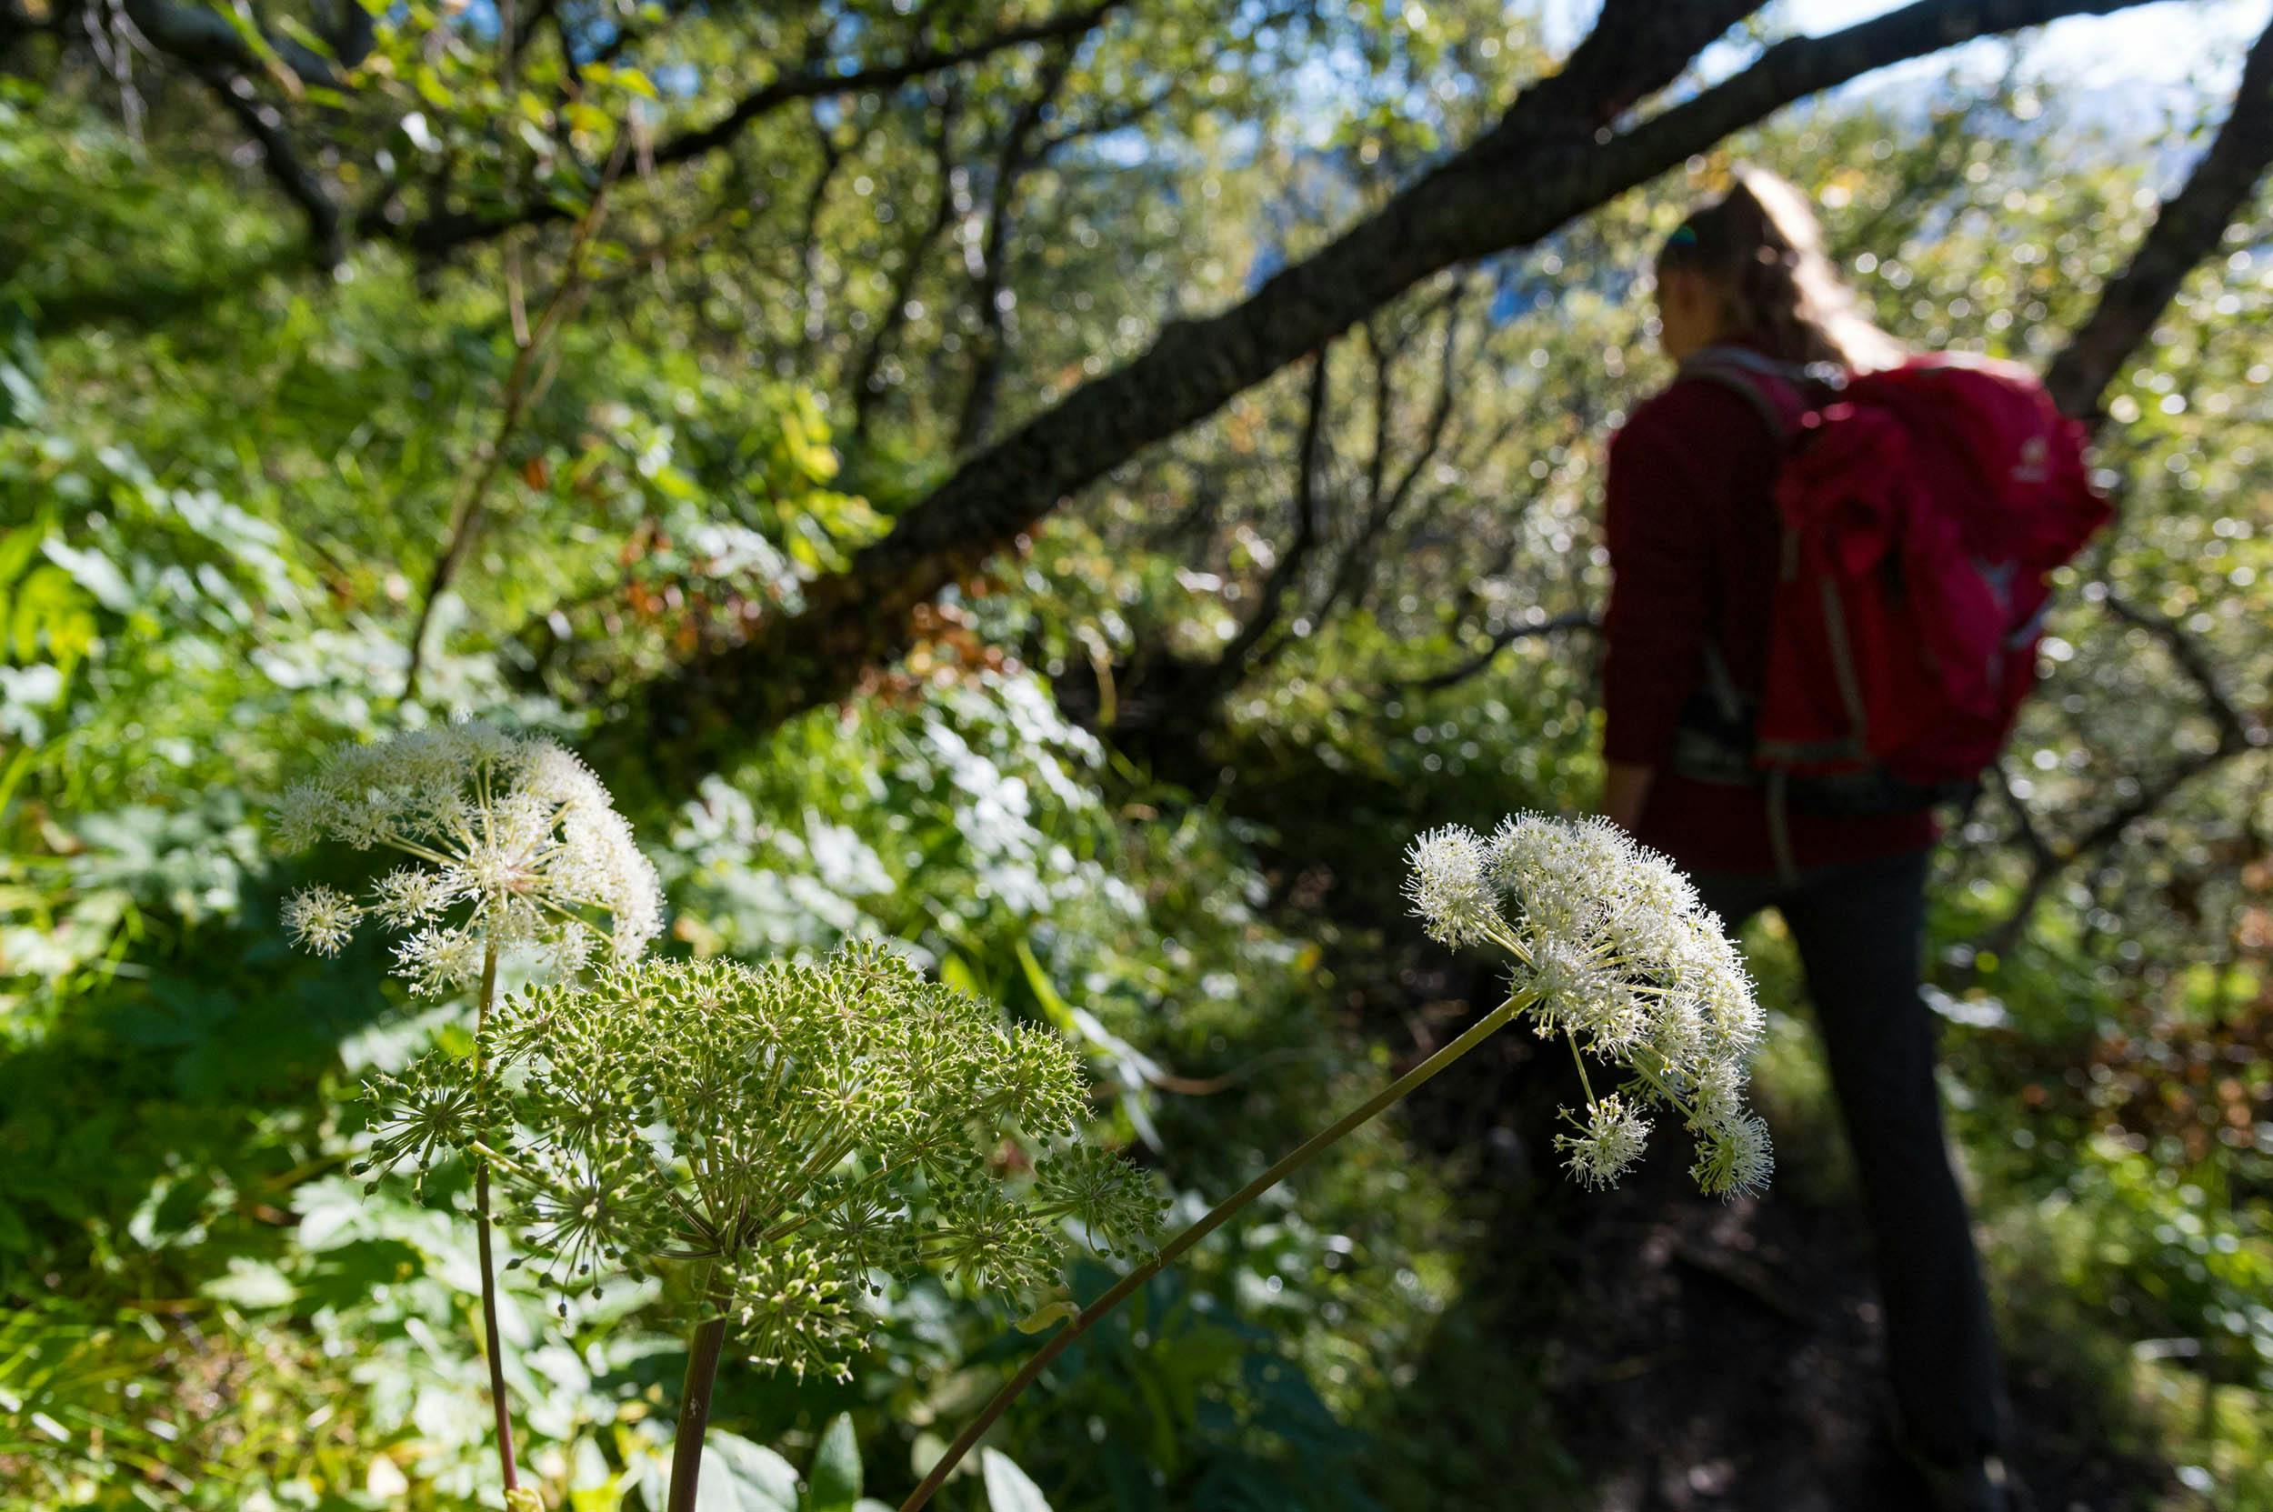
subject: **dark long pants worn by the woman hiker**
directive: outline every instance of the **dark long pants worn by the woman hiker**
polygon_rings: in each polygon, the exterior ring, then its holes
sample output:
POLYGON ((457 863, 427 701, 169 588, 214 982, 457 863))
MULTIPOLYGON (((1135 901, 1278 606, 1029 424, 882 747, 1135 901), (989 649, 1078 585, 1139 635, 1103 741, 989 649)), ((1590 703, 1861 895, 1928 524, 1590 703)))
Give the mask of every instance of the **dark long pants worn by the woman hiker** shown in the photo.
POLYGON ((2005 1394, 1918 996, 1925 864, 1914 850, 1789 884, 1725 871, 1696 882, 1730 934, 1764 907, 1791 928, 1877 1248, 1900 1430, 1914 1453, 1962 1464, 1998 1448, 2005 1394))

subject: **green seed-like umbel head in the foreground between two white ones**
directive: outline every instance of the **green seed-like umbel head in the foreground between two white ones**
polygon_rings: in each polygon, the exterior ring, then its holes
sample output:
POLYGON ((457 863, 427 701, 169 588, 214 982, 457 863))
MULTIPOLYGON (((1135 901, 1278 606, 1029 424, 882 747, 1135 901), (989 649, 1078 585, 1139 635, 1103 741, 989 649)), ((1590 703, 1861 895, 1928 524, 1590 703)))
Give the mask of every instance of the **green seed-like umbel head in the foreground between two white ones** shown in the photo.
POLYGON ((370 1100, 366 1169, 491 1162, 564 1314, 566 1291, 686 1262, 696 1312, 800 1378, 850 1380, 880 1276, 1034 1294, 1064 1226, 1127 1253, 1155 1219, 1143 1180, 1086 1146, 1041 1153, 1014 1194, 998 1150, 1073 1135, 1073 1057, 873 946, 539 987, 491 1012, 471 1060, 430 1050, 370 1100))

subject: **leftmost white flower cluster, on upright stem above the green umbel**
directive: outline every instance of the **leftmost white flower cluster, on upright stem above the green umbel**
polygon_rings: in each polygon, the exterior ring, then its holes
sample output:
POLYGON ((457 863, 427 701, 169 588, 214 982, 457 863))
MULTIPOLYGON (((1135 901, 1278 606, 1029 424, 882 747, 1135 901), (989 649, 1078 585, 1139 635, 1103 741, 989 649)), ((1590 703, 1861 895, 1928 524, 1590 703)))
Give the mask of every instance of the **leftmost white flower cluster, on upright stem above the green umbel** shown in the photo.
POLYGON ((411 991, 471 987, 491 946, 552 975, 607 946, 636 957, 664 928, 655 866, 591 769, 559 743, 480 721, 341 746, 275 807, 286 848, 345 841, 411 857, 364 900, 309 887, 284 903, 293 939, 334 955, 364 919, 402 932, 411 991))

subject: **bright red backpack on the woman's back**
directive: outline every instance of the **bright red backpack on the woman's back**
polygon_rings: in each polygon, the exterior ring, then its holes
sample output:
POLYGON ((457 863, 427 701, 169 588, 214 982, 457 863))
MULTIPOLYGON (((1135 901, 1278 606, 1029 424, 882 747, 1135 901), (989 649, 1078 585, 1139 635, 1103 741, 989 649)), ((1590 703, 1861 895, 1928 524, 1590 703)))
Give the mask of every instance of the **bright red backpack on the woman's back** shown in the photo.
POLYGON ((1755 780, 1825 812, 1971 791, 2034 682, 2050 571, 2112 514, 2082 427, 2028 368, 1962 355, 1837 384, 1712 348, 1682 373, 1748 396, 1787 446, 1755 780))

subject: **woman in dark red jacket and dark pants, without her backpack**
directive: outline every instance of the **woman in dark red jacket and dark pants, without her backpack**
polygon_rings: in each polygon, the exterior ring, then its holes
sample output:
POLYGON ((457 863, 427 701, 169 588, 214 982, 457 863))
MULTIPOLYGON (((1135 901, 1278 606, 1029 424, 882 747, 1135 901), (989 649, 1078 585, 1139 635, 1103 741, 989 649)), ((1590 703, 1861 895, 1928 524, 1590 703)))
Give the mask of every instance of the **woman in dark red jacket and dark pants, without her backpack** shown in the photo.
POLYGON ((1930 1505, 2007 1507, 1998 1348, 1918 994, 1932 809, 1809 805, 1752 764, 1777 637, 1807 634, 1771 616, 1789 441, 1834 384, 1903 350, 1855 314, 1805 200, 1752 171, 1666 239, 1657 302, 1682 368, 1609 448, 1602 807, 1730 932, 1784 916, 1875 1241, 1896 1437, 1930 1505))

